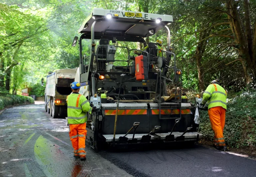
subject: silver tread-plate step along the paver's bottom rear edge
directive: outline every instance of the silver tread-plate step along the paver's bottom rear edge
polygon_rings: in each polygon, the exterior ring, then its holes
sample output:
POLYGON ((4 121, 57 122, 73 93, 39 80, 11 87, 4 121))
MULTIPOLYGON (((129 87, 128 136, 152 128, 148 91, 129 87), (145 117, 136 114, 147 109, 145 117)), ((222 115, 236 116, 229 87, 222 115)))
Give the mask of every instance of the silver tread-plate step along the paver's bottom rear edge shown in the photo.
MULTIPOLYGON (((154 135, 150 135, 151 136, 151 140, 165 140, 165 137, 167 135, 169 135, 171 132, 166 132, 166 133, 155 133, 154 135)), ((172 134, 174 135, 174 141, 176 141, 176 138, 181 136, 183 134, 183 132, 172 132, 172 134)), ((118 138, 120 136, 124 136, 125 134, 116 134, 116 138, 115 141, 118 141, 118 138)), ((141 140, 142 136, 147 135, 146 133, 142 133, 142 134, 135 134, 134 138, 136 138, 138 141, 141 140)), ((113 136, 114 135, 103 135, 104 138, 106 139, 106 142, 112 142, 113 141, 113 136)), ((198 138, 203 137, 203 134, 198 133, 198 132, 186 132, 186 134, 183 135, 185 137, 184 141, 186 140, 198 140, 198 138)), ((133 137, 133 134, 128 134, 126 135, 126 137, 128 138, 128 140, 131 140, 133 137)))

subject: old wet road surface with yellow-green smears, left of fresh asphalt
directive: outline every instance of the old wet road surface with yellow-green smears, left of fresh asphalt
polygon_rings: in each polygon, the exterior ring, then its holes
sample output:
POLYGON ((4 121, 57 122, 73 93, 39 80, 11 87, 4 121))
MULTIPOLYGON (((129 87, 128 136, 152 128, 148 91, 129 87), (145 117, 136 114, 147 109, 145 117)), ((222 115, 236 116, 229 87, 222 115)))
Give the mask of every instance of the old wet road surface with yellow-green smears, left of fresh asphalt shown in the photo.
POLYGON ((87 160, 73 157, 65 119, 53 119, 44 105, 6 109, 0 115, 0 176, 130 177, 86 147, 87 160))

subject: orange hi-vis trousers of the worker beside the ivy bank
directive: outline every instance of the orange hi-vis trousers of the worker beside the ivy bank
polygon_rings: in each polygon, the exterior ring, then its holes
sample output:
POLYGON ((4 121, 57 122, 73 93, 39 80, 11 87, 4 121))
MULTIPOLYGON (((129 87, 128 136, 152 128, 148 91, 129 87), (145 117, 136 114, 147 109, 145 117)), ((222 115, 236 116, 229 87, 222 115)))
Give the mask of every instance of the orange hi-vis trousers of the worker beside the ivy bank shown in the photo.
POLYGON ((225 146, 223 129, 225 126, 226 109, 222 106, 216 106, 208 109, 208 115, 214 132, 214 144, 216 146, 225 146))

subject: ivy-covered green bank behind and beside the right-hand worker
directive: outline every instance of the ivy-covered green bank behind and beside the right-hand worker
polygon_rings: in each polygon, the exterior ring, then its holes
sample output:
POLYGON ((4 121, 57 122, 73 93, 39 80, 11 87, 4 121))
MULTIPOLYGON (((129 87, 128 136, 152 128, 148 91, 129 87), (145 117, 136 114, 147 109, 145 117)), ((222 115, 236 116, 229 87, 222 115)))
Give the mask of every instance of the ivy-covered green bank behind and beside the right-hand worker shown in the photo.
MULTIPOLYGON (((207 111, 200 110, 199 132, 206 140, 213 140, 207 111)), ((256 90, 228 99, 224 138, 230 147, 256 147, 256 90)))

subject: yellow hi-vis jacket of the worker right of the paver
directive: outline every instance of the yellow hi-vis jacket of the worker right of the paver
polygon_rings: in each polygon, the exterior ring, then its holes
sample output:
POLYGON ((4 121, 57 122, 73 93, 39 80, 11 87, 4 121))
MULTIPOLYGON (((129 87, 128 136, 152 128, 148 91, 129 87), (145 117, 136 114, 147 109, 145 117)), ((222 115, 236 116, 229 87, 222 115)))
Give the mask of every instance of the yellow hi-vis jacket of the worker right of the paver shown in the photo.
POLYGON ((209 85, 204 94, 202 103, 205 104, 209 101, 208 109, 216 106, 222 106, 227 109, 227 92, 226 90, 218 84, 209 85))

